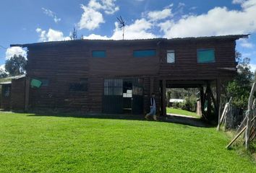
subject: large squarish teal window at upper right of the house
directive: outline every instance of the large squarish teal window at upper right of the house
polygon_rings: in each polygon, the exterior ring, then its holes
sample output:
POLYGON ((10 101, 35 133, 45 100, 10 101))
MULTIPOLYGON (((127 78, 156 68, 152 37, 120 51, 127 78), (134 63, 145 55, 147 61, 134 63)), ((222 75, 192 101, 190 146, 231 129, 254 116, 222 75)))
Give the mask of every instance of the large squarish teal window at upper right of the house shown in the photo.
POLYGON ((197 49, 197 63, 215 63, 214 49, 197 49))

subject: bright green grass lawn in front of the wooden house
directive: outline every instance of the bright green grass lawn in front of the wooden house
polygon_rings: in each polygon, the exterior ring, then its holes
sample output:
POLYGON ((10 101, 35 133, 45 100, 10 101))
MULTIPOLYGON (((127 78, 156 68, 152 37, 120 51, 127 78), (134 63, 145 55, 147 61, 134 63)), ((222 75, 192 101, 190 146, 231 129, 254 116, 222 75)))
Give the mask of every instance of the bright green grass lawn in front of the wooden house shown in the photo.
POLYGON ((0 172, 256 172, 216 128, 0 113, 0 172))

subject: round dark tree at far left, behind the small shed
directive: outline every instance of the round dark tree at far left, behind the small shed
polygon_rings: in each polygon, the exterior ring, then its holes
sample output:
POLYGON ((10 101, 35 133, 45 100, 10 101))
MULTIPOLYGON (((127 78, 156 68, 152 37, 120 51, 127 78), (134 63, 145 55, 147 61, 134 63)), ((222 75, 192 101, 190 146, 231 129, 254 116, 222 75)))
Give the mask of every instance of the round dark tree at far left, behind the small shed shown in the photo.
POLYGON ((17 76, 25 74, 25 66, 27 61, 23 56, 14 55, 9 58, 5 63, 5 69, 9 73, 9 76, 17 76))

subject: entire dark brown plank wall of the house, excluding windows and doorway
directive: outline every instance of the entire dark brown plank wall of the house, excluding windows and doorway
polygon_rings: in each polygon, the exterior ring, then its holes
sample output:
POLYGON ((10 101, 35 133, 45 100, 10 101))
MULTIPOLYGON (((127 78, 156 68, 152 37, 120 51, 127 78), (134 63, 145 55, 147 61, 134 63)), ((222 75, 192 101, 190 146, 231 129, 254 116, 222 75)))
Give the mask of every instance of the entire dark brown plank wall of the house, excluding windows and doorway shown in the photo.
MULTIPOLYGON (((135 43, 68 42, 29 47, 27 76, 49 79, 48 86, 30 89, 30 107, 65 108, 101 112, 104 79, 142 77, 144 110, 149 111, 150 77, 159 105, 159 81, 217 79, 234 71, 219 68, 236 66, 233 40, 135 43), (215 48, 216 63, 197 63, 197 48, 215 48), (157 56, 134 58, 133 50, 156 49, 157 56), (92 50, 106 50, 106 58, 93 58, 92 50), (176 63, 166 63, 166 50, 175 50, 176 63), (88 78, 88 92, 69 92, 69 83, 88 78)), ((159 111, 159 108, 158 108, 159 111)))

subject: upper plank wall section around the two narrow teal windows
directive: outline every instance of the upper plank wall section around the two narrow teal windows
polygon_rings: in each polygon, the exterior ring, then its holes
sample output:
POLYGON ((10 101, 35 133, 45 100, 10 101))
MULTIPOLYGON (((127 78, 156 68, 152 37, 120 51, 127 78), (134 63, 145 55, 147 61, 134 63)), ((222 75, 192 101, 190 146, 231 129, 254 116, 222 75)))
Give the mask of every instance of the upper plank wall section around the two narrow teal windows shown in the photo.
POLYGON ((93 58, 90 54, 91 76, 151 76, 158 73, 158 56, 134 58, 133 50, 156 49, 154 43, 95 44, 92 50, 106 50, 106 58, 93 58))

